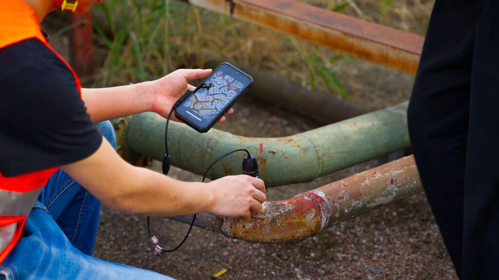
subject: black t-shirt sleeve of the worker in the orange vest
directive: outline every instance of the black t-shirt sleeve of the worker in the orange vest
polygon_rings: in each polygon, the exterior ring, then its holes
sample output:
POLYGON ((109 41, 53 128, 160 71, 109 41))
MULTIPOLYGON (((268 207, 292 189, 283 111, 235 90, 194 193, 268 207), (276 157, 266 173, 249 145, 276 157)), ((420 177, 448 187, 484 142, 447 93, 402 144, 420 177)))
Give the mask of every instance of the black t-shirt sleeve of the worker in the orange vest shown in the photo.
POLYGON ((0 49, 3 176, 76 162, 101 141, 72 72, 57 55, 37 39, 0 49))

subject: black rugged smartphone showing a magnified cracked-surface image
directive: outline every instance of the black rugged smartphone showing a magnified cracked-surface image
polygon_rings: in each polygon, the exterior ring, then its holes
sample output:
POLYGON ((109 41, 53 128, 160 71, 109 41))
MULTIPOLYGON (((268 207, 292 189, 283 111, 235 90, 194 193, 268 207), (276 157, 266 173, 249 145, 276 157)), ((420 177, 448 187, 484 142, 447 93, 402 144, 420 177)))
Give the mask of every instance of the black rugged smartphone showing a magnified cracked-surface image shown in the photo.
POLYGON ((175 116, 200 133, 208 132, 252 85, 250 75, 222 63, 179 104, 175 116))

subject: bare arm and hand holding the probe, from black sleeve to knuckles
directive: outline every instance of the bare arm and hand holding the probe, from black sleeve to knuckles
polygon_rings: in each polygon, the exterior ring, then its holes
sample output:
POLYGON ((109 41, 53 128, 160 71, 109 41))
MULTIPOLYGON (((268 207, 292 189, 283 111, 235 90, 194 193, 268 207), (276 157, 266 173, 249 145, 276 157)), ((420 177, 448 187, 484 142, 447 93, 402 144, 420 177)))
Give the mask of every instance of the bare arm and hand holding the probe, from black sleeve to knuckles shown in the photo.
POLYGON ((124 161, 108 141, 89 157, 61 166, 111 209, 158 216, 209 212, 250 220, 265 201, 265 185, 247 175, 210 183, 182 182, 124 161))

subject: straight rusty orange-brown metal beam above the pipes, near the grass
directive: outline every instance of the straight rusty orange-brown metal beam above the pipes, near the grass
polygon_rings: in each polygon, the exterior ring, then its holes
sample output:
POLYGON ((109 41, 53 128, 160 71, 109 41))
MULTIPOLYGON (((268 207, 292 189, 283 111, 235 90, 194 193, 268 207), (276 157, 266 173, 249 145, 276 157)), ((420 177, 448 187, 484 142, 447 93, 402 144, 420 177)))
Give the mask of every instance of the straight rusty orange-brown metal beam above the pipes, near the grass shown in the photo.
POLYGON ((183 0, 412 75, 424 37, 292 0, 183 0))

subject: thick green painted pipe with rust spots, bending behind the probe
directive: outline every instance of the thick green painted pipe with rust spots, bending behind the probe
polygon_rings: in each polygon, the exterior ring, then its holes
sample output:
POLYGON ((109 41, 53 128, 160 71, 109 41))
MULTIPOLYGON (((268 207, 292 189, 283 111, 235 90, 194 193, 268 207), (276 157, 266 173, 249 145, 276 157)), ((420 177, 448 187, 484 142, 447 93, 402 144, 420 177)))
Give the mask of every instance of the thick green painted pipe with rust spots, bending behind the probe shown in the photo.
MULTIPOLYGON (((222 154, 246 148, 258 160, 259 175, 266 186, 307 182, 345 167, 409 147, 408 102, 315 130, 281 138, 248 138, 211 129, 200 134, 170 122, 168 148, 172 164, 203 174, 222 154)), ((129 151, 162 160, 165 153, 165 120, 142 113, 121 120, 119 132, 129 151), (123 121, 125 124, 123 125, 123 121)), ((120 140, 118 140, 120 142, 120 140)), ((231 154, 217 163, 212 179, 241 174, 244 153, 231 154)))

